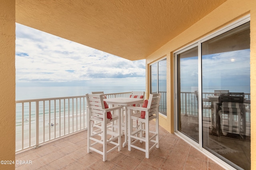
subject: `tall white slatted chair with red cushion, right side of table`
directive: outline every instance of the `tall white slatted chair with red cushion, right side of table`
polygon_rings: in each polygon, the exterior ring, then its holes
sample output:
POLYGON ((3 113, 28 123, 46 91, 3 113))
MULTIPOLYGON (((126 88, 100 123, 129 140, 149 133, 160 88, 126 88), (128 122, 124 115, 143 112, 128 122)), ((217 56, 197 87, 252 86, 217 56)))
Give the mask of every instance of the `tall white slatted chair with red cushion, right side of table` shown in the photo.
POLYGON ((150 94, 149 99, 144 101, 144 107, 128 106, 128 150, 135 148, 146 153, 146 158, 149 158, 149 152, 154 147, 159 147, 159 103, 161 94, 150 94), (146 105, 147 103, 147 105, 146 105), (133 110, 138 112, 134 113, 133 110), (144 118, 142 117, 144 115, 144 118), (155 119, 154 131, 149 129, 149 122, 155 119), (133 127, 133 123, 137 122, 137 126, 133 127), (142 123, 145 123, 145 127, 142 128, 142 123), (138 125, 140 124, 140 125, 138 125), (143 132, 145 134, 143 134, 143 132), (144 143, 145 145, 136 145, 144 143))

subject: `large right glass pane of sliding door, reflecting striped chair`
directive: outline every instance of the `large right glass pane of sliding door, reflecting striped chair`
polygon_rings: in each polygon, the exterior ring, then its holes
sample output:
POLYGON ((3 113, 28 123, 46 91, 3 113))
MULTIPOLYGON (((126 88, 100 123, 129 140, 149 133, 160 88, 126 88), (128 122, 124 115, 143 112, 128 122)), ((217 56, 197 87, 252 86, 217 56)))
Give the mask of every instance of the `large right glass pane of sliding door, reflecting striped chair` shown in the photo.
POLYGON ((250 169, 250 22, 202 43, 203 147, 250 169))

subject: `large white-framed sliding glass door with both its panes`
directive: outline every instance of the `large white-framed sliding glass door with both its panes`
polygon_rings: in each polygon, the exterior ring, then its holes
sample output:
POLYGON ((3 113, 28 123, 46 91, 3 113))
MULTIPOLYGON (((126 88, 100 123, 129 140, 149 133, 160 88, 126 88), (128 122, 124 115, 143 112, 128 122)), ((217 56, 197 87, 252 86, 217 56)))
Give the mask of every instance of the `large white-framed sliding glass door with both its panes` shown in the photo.
POLYGON ((249 18, 174 56, 178 132, 227 166, 250 169, 249 18))

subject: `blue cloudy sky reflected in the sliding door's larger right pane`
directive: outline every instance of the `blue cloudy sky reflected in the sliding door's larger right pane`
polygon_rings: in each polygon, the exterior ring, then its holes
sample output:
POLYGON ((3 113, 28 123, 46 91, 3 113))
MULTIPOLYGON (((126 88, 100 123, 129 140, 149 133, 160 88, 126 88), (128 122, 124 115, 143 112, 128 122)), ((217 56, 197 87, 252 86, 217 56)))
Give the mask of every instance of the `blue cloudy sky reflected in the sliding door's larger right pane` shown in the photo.
POLYGON ((250 49, 202 57, 202 81, 206 86, 250 86, 250 49))

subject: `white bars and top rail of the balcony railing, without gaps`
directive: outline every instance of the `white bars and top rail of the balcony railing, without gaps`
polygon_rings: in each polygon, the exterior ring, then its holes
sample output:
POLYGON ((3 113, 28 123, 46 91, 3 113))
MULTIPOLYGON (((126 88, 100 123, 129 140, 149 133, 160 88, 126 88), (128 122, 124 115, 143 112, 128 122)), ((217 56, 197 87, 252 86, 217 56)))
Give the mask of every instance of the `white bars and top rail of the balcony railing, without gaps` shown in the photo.
MULTIPOLYGON (((108 98, 114 98, 115 96, 118 96, 118 97, 124 96, 124 94, 127 95, 127 94, 130 94, 130 92, 119 93, 119 95, 118 94, 106 94, 106 96, 108 96, 108 98)), ((64 133, 63 136, 73 133, 74 132, 74 125, 72 127, 73 131, 70 132, 70 128, 71 128, 70 124, 71 123, 74 124, 74 99, 77 99, 77 98, 83 98, 83 110, 84 110, 83 129, 88 129, 88 127, 86 125, 88 123, 87 122, 87 114, 88 114, 88 108, 87 107, 88 106, 86 106, 87 105, 86 104, 86 96, 70 96, 70 97, 64 97, 64 98, 44 98, 44 99, 33 99, 33 100, 16 100, 16 104, 21 104, 22 105, 21 106, 22 110, 20 111, 21 113, 19 113, 20 114, 19 116, 21 118, 18 120, 21 123, 21 132, 18 133, 18 135, 20 135, 20 138, 21 138, 21 141, 18 141, 18 142, 20 142, 21 147, 16 149, 16 151, 24 150, 24 149, 27 149, 27 148, 30 148, 30 147, 33 147, 34 149, 36 149, 36 148, 40 147, 39 144, 42 144, 42 143, 45 143, 45 142, 48 142, 48 141, 52 141, 53 139, 56 139, 56 138, 60 137, 60 135, 58 137, 56 137, 56 134, 55 134, 55 132, 56 132, 56 129, 55 129, 55 125, 56 125, 56 103, 55 102, 56 102, 56 100, 59 100, 60 103, 61 103, 62 99, 64 100, 64 106, 62 106, 62 104, 60 104, 60 106, 59 106, 60 107, 60 109, 59 109, 60 119, 61 119, 61 114, 62 114, 61 113, 62 107, 64 109, 64 122, 62 122, 62 121, 59 122, 60 123, 60 126, 58 128, 58 129, 60 129, 59 131, 63 131, 63 128, 64 128, 65 133, 64 133), (66 102, 66 100, 67 100, 67 102, 66 102), (72 107, 70 107, 70 100, 72 100, 72 107), (45 103, 46 101, 47 101, 47 104, 45 103), (53 112, 51 110, 51 108, 52 108, 51 102, 52 101, 54 101, 53 112), (24 103, 28 103, 28 104, 24 105, 24 103), (31 103, 33 103, 33 104, 35 103, 32 106, 32 108, 31 108, 31 103), (66 106, 66 104, 68 104, 68 106, 66 106), (41 107, 42 107, 42 110, 40 109, 41 107), (66 113, 66 107, 68 107, 68 113, 66 113), (28 110, 28 113, 27 112, 24 113, 25 112, 24 109, 26 111, 28 110), (42 130, 42 133, 40 133, 41 129, 39 129, 39 128, 41 128, 39 126, 39 121, 40 121, 39 111, 43 112, 42 123, 43 123, 43 128, 44 129, 42 130), (70 115, 70 111, 72 111, 72 115, 70 115), (32 115, 35 114, 35 117, 31 116, 31 113, 33 113, 32 115), (52 117, 52 115, 51 115, 52 113, 54 113, 54 117, 52 117), (25 122, 24 114, 25 115, 28 114, 28 115, 26 115, 26 116, 29 116, 28 120, 26 120, 28 122, 25 122), (72 117, 70 117, 70 116, 72 116, 72 117), (54 125, 51 125, 51 121, 52 121, 51 117, 52 117, 52 119, 54 119, 54 123, 55 123, 54 125), (70 118, 72 118, 72 119, 70 119, 70 118), (32 126, 32 128, 31 128, 31 121, 33 121, 33 122, 35 121, 35 123, 33 123, 34 125, 32 126), (27 123, 28 123, 28 131, 29 131, 28 132, 28 137, 24 136, 24 130, 25 130, 24 124, 27 125, 27 123), (45 125, 45 123, 48 123, 48 126, 45 125), (46 127, 48 127, 48 128, 46 128, 46 127), (31 129, 33 129, 33 132, 35 130, 34 135, 31 135, 31 129), (67 134, 66 134, 66 131, 68 131, 67 134), (51 138, 53 132, 54 132, 54 137, 51 138), (45 141, 45 137, 46 137, 47 133, 48 133, 48 140, 45 141), (24 139, 24 138, 26 138, 26 139, 24 139), (28 147, 24 148, 24 143, 25 143, 24 141, 27 140, 27 138, 29 138, 28 139, 29 144, 28 144, 28 147), (34 143, 32 143, 32 145, 31 145, 31 139, 34 140, 34 143), (42 139, 42 140, 40 141, 40 139, 42 139)), ((76 116, 78 116, 77 115, 78 102, 76 101, 76 103, 77 103, 76 104, 76 116)), ((81 124, 82 124, 82 121, 81 121, 81 117, 82 117, 81 107, 82 107, 82 104, 81 104, 81 101, 80 101, 80 130, 82 130, 82 127, 81 127, 81 124)), ((17 108, 18 107, 16 106, 16 109, 17 108)), ((17 114, 17 112, 16 112, 16 114, 17 114)), ((27 117, 25 117, 25 118, 27 118, 27 117)), ((77 119, 78 119, 78 117, 77 117, 77 119)), ((78 120, 76 120, 76 124, 78 124, 78 120)), ((78 127, 78 125, 76 125, 76 126, 78 127)), ((60 134, 61 134, 61 132, 60 132, 60 134)), ((17 131, 16 131, 16 136, 17 136, 17 131)))

